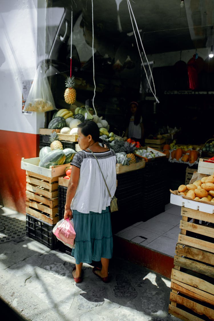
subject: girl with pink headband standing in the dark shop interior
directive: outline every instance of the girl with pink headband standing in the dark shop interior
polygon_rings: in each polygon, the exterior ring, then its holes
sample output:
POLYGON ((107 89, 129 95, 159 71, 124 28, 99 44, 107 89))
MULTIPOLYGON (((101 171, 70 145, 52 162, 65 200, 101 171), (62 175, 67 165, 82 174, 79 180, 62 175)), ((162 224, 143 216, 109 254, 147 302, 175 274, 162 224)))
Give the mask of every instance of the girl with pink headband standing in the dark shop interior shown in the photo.
POLYGON ((129 104, 126 118, 125 136, 143 144, 144 127, 142 123, 141 110, 136 101, 129 104))

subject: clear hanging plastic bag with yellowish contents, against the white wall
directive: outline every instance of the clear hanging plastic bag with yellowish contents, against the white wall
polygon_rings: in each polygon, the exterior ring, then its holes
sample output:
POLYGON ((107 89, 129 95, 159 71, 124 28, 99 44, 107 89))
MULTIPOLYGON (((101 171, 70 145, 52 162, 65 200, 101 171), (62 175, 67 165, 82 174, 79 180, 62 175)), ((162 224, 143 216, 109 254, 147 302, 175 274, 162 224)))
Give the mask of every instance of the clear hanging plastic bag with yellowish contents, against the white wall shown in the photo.
POLYGON ((44 72, 44 67, 39 65, 30 88, 23 111, 45 112, 57 109, 54 98, 44 72))

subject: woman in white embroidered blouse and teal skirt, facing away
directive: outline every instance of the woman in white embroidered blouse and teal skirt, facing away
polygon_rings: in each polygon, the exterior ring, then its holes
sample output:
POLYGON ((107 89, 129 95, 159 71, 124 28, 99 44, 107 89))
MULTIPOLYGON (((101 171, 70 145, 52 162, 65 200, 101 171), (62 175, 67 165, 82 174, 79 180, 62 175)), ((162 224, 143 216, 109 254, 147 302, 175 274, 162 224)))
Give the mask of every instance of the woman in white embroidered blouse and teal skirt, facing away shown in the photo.
POLYGON ((116 191, 116 155, 109 148, 99 145, 99 128, 93 121, 78 125, 81 152, 74 155, 71 178, 66 194, 64 219, 73 217, 76 232, 72 255, 76 260, 72 275, 76 283, 82 282, 82 263, 100 261, 102 268, 93 268, 93 273, 108 282, 108 265, 112 257, 113 239, 109 197, 105 177, 111 195, 116 191))

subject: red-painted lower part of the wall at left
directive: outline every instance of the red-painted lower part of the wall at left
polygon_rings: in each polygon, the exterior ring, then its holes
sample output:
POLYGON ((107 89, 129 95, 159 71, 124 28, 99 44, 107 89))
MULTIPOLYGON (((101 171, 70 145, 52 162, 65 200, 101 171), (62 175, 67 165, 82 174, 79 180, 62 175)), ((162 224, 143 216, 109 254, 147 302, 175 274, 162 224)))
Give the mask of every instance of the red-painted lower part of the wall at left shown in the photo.
POLYGON ((39 134, 0 130, 0 195, 5 207, 25 214, 26 173, 21 158, 39 156, 39 134))

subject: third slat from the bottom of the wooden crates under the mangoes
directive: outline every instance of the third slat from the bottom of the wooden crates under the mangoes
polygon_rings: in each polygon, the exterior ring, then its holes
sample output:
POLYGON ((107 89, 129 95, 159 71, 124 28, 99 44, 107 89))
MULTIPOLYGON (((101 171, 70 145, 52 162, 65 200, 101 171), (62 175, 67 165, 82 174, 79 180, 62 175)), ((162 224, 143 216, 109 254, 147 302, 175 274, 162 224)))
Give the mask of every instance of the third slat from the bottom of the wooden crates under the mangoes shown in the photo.
POLYGON ((214 305, 214 295, 201 291, 191 285, 185 284, 177 280, 171 280, 171 289, 177 292, 181 292, 191 298, 207 302, 214 305))

